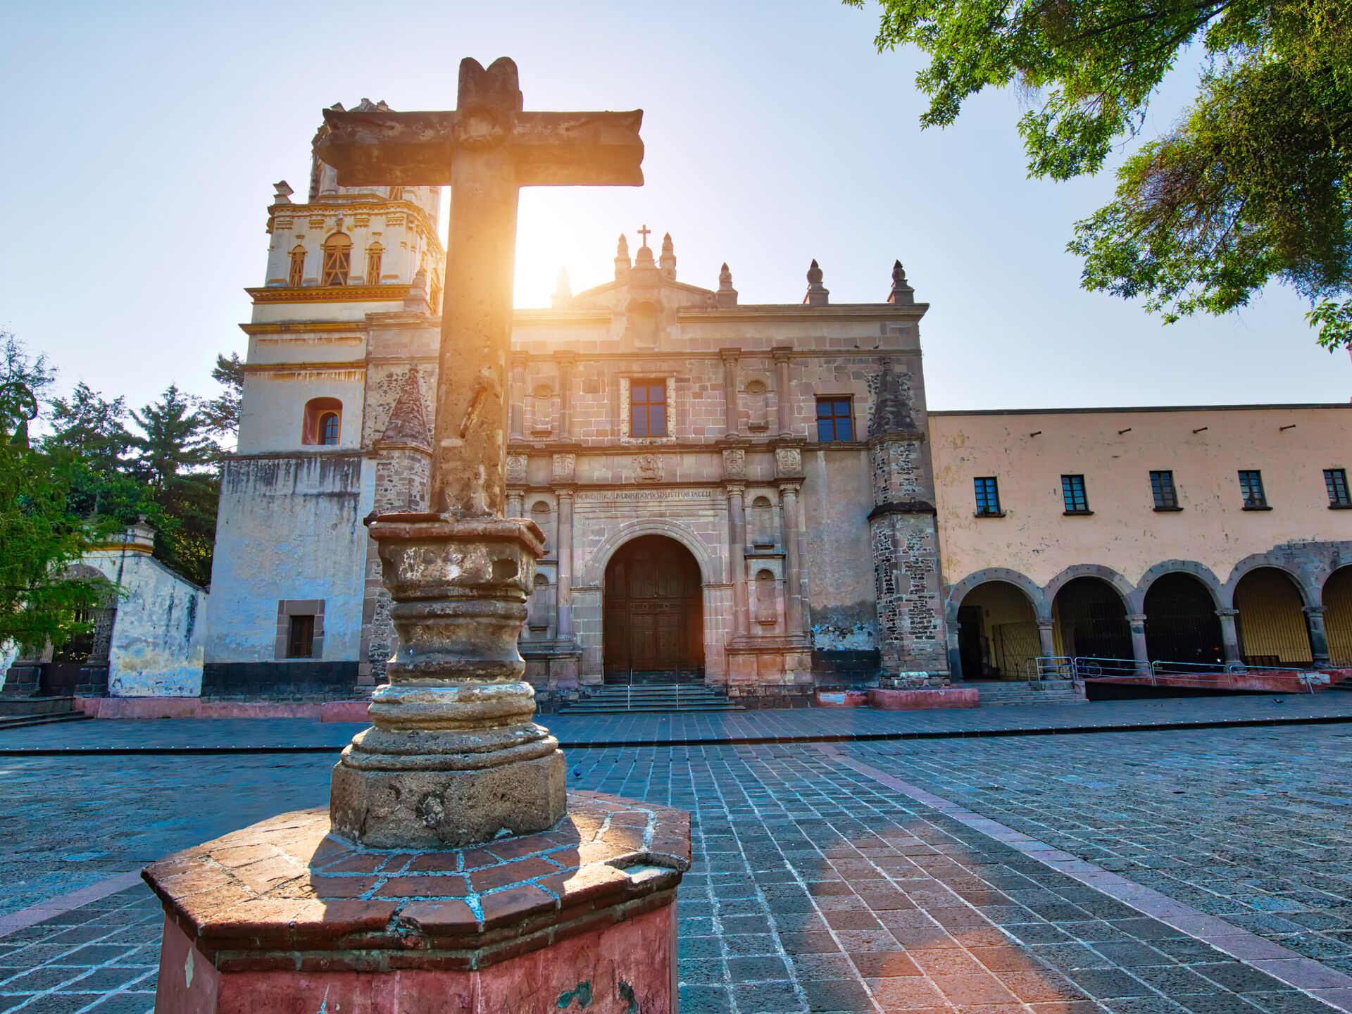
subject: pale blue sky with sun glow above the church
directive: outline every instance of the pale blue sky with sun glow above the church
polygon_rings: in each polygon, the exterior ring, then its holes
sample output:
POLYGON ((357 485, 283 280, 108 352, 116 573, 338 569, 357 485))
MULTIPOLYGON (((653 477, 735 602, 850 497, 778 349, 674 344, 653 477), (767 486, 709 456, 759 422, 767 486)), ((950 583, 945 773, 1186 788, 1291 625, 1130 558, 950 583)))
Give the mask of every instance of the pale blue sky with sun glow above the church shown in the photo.
MULTIPOLYGON (((1344 402, 1347 353, 1314 343, 1303 303, 1171 327, 1079 288, 1064 253, 1109 176, 1030 181, 1010 92, 921 131, 917 54, 877 54, 875 9, 811 3, 5 4, 0 88, 0 327, 134 406, 168 383, 214 393, 215 353, 245 349, 272 183, 304 192, 319 110, 362 96, 454 104, 462 55, 510 55, 527 108, 646 111, 641 189, 527 191, 518 306, 558 265, 606 281, 648 223, 680 277, 744 301, 798 301, 811 258, 833 300, 882 300, 902 258, 930 406, 994 408, 1344 402)), ((1171 80, 1149 128, 1190 93, 1171 80)))

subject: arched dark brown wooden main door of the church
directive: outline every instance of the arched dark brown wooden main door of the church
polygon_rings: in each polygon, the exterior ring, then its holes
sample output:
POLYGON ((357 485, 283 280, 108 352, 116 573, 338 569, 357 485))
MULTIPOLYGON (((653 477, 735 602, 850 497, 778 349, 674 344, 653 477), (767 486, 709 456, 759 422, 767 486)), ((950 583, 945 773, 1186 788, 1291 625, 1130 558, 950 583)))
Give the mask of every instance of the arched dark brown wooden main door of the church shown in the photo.
POLYGON ((606 566, 606 683, 702 683, 699 564, 665 535, 625 544, 606 566))

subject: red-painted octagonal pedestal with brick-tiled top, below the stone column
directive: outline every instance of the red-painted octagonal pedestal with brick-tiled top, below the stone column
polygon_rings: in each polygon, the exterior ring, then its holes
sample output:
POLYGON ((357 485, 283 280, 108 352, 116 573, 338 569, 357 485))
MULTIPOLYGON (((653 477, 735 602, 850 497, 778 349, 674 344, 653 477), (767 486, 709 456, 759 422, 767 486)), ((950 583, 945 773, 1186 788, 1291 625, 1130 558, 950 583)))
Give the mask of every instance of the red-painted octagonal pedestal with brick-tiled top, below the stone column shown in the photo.
POLYGON ((588 1014, 676 1009, 690 817, 594 792, 549 831, 366 849, 322 810, 153 864, 157 1014, 588 1014))

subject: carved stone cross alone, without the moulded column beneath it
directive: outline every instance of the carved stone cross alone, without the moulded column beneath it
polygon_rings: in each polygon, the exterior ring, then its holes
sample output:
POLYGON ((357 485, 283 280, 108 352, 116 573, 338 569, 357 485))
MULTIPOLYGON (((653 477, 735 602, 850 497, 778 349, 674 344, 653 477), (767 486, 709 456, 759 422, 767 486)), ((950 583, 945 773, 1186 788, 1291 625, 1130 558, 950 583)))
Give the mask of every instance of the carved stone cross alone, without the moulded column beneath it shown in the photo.
POLYGON ((507 57, 487 70, 462 59, 457 103, 448 112, 324 110, 318 154, 345 187, 450 184, 431 504, 500 518, 519 191, 641 187, 644 114, 523 112, 507 57))

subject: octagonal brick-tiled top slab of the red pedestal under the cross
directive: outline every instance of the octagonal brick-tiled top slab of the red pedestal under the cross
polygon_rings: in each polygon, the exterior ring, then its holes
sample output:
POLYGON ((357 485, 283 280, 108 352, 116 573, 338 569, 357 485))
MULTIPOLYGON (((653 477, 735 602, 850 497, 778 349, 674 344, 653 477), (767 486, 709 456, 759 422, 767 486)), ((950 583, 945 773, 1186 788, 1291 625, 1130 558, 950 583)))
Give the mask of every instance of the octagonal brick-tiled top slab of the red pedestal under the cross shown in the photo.
POLYGON ((222 972, 473 969, 665 907, 688 868, 688 814, 575 792, 549 830, 470 849, 375 849, 303 810, 145 877, 222 972))

